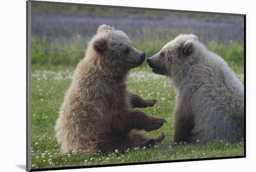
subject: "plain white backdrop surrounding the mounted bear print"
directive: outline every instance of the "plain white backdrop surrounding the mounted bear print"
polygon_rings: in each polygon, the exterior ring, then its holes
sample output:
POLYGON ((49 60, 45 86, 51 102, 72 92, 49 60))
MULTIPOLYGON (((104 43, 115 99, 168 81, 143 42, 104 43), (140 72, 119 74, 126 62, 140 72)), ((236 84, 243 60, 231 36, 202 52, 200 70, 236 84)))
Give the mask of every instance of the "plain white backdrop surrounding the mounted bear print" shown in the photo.
MULTIPOLYGON (((255 169, 255 31, 256 10, 253 1, 235 0, 52 0, 72 3, 101 4, 129 7, 168 8, 176 10, 207 11, 246 14, 246 106, 247 106, 247 158, 222 159, 195 162, 179 162, 151 165, 130 165, 90 169, 67 170, 68 172, 130 172, 130 171, 196 171, 216 172, 253 171, 255 169)), ((26 1, 1 2, 1 60, 0 60, 0 127, 1 171, 25 171, 26 165, 26 1), (3 53, 2 53, 3 52, 3 53)))

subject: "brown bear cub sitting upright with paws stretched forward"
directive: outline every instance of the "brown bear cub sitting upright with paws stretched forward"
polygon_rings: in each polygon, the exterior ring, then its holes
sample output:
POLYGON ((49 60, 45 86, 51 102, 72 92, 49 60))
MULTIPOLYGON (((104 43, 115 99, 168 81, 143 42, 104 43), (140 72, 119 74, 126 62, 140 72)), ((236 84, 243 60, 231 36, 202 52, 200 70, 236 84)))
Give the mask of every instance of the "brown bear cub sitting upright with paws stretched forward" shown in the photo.
POLYGON ((134 131, 157 130, 166 122, 133 109, 156 103, 127 90, 129 70, 144 60, 145 53, 132 46, 125 33, 107 25, 98 28, 75 70, 56 122, 63 151, 122 152, 164 139, 163 132, 150 139, 134 131))

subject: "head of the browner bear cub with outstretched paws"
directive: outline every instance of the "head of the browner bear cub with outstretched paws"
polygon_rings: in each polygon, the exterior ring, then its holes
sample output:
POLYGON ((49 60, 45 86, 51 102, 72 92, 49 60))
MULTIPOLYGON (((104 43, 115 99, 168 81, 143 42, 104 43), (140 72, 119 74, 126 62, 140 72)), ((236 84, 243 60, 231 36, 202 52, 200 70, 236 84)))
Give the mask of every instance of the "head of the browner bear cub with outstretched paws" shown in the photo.
POLYGON ((137 50, 126 33, 108 25, 101 25, 92 39, 94 52, 104 64, 115 68, 134 68, 141 66, 145 53, 137 50))

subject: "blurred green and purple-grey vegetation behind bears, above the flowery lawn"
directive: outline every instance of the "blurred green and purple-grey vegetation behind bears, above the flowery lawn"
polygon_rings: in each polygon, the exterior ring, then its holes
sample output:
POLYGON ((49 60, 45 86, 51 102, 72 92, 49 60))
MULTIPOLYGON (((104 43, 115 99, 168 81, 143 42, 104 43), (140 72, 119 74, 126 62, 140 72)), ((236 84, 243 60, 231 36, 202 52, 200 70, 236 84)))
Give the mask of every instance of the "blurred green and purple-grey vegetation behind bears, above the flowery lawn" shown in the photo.
POLYGON ((243 16, 41 2, 32 3, 32 64, 75 66, 101 24, 126 32, 147 57, 193 33, 209 50, 243 65, 243 16))

